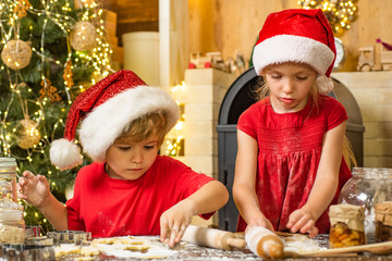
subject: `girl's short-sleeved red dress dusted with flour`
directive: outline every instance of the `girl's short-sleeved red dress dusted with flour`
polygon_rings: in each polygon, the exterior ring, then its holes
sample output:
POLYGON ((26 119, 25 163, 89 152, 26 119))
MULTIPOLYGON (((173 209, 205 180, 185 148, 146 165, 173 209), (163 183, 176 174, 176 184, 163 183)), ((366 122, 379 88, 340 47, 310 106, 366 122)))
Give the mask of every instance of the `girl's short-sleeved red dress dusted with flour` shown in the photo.
MULTIPOLYGON (((328 96, 318 96, 314 102, 293 113, 275 113, 266 98, 249 107, 238 119, 237 128, 257 140, 256 194, 260 210, 274 229, 286 229, 289 215, 304 206, 315 183, 321 156, 322 138, 347 120, 343 105, 328 96)), ((352 176, 342 159, 338 191, 332 203, 338 202, 340 190, 352 176)), ((319 233, 329 232, 327 210, 316 222, 319 233)), ((246 223, 240 216, 237 231, 246 223)))

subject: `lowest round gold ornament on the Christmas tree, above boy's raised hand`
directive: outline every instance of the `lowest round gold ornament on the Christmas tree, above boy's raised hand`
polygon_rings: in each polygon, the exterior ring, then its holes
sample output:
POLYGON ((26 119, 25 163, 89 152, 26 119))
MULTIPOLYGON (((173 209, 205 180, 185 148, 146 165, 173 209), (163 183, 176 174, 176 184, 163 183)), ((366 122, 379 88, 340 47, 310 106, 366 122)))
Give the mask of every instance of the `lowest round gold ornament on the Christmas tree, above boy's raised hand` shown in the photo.
POLYGON ((41 136, 37 123, 26 117, 20 122, 20 125, 17 146, 22 149, 30 149, 38 145, 41 136))

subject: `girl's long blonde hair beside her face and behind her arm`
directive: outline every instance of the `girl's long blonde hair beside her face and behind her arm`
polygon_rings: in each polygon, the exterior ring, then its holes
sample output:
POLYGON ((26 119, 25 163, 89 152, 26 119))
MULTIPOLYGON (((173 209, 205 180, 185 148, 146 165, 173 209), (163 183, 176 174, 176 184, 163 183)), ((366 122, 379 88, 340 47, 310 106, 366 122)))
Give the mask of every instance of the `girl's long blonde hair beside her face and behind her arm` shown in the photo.
MULTIPOLYGON (((254 90, 255 98, 257 100, 262 100, 264 98, 269 97, 270 90, 269 90, 267 80, 265 80, 265 77, 258 76, 257 83, 258 83, 257 87, 254 90)), ((318 96, 318 91, 317 91, 317 85, 315 83, 311 86, 311 89, 309 92, 309 99, 313 101, 311 103, 314 104, 314 108, 311 108, 310 112, 313 110, 317 110, 317 112, 318 112, 318 110, 319 110, 319 107, 318 107, 319 98, 318 97, 319 96, 318 96)), ((357 166, 357 162, 355 159, 353 148, 352 148, 351 142, 346 135, 344 135, 344 139, 343 139, 342 154, 343 154, 344 161, 348 165, 348 169, 352 169, 352 166, 357 166)))

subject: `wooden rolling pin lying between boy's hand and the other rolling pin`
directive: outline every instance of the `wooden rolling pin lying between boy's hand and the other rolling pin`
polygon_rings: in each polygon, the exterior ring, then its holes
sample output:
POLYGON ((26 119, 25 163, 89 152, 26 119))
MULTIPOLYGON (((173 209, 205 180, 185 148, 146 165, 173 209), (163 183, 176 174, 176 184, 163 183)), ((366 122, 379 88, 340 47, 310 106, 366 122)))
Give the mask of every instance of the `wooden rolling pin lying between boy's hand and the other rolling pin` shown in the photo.
POLYGON ((234 247, 246 247, 246 241, 243 238, 237 238, 232 232, 194 225, 189 225, 186 228, 182 240, 223 250, 232 250, 234 247))

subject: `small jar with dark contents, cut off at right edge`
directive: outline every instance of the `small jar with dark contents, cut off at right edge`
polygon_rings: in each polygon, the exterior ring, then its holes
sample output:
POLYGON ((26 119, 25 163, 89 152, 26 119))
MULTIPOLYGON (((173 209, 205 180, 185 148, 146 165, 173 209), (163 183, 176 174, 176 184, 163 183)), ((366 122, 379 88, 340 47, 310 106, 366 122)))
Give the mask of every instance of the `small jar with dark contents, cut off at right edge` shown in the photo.
POLYGON ((376 241, 392 241, 392 201, 375 206, 376 241))

